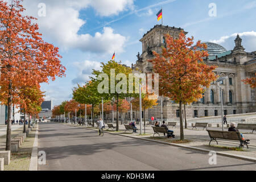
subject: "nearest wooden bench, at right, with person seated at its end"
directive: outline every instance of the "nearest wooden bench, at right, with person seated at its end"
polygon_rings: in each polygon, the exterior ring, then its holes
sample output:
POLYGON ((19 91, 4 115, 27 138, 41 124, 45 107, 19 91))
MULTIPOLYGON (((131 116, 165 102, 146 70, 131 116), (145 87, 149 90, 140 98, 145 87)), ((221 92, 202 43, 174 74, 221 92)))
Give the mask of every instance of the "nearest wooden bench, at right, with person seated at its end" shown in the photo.
MULTIPOLYGON (((235 141, 239 141, 240 142, 240 146, 239 148, 241 148, 242 144, 245 144, 247 146, 247 143, 245 143, 242 140, 241 134, 239 132, 236 131, 216 131, 216 130, 207 130, 209 137, 210 137, 210 142, 212 142, 212 140, 215 140, 217 142, 216 139, 224 139, 224 140, 235 140, 235 141)), ((217 142, 218 144, 218 142, 217 142)), ((210 145, 210 143, 209 143, 210 145)), ((249 148, 247 146, 247 148, 249 148)))

